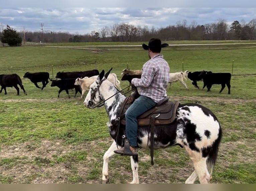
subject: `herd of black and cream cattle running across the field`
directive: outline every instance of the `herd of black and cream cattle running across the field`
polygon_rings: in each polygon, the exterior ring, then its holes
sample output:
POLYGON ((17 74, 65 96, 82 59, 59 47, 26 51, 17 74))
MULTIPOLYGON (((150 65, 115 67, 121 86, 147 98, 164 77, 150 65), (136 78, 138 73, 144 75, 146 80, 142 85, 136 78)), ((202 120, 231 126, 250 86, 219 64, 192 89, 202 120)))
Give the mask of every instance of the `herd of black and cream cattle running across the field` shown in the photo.
MULTIPOLYGON (((133 78, 141 78, 142 71, 141 70, 129 70, 124 69, 121 73, 122 75, 122 81, 127 80, 129 83, 131 83, 131 80, 133 78)), ((90 70, 90 71, 84 71, 84 72, 58 72, 56 74, 56 79, 50 79, 49 73, 47 72, 37 72, 37 73, 25 73, 23 78, 28 78, 35 86, 36 88, 40 88, 37 83, 42 83, 43 90, 46 85, 49 83, 48 80, 51 81, 51 87, 58 87, 58 97, 60 92, 66 91, 66 93, 69 95, 69 90, 75 89, 76 93, 79 92, 81 94, 81 98, 83 97, 84 93, 87 92, 90 88, 90 85, 96 80, 97 76, 99 75, 98 70, 90 70)), ((176 72, 176 73, 169 73, 169 88, 171 86, 171 83, 180 81, 181 84, 188 90, 186 83, 184 80, 187 80, 188 78, 192 84, 198 88, 197 81, 203 81, 204 86, 207 87, 207 91, 210 91, 212 85, 214 84, 220 84, 221 90, 220 93, 223 91, 223 89, 228 87, 228 94, 230 94, 230 80, 231 80, 231 74, 230 73, 212 73, 211 71, 197 71, 197 72, 176 72)), ((120 81, 117 79, 116 74, 112 73, 108 76, 108 79, 111 83, 114 84, 114 86, 121 91, 120 87, 120 81)), ((6 87, 14 87, 17 90, 17 95, 19 95, 19 88, 23 90, 24 94, 27 95, 24 86, 22 85, 21 78, 17 74, 2 74, 0 75, 0 85, 1 90, 0 93, 2 93, 2 90, 6 92, 6 87)))

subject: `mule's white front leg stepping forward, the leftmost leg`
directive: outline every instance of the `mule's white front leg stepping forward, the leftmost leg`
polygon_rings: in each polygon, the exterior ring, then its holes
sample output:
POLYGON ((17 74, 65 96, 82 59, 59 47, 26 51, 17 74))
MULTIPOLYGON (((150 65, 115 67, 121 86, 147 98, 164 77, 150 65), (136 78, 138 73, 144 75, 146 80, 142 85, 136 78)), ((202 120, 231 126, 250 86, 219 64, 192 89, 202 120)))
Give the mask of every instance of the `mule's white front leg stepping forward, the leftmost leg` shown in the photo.
POLYGON ((112 145, 109 147, 109 149, 105 152, 103 156, 102 183, 108 182, 108 162, 109 158, 115 154, 114 150, 116 148, 116 141, 113 141, 112 145))

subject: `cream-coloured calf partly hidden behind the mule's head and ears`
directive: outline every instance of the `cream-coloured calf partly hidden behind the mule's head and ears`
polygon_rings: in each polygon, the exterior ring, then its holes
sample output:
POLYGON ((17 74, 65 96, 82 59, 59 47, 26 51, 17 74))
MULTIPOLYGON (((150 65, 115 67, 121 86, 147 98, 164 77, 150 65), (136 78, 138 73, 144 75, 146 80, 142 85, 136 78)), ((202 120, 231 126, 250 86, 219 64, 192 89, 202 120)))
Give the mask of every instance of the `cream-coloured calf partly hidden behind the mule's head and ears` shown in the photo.
MULTIPOLYGON (((79 85, 82 88, 82 95, 81 98, 83 98, 83 95, 85 92, 89 91, 90 86, 92 85, 92 83, 94 83, 94 81, 97 79, 98 76, 92 76, 90 78, 85 77, 83 79, 81 78, 77 78, 75 85, 79 85)), ((117 79, 117 76, 115 73, 109 74, 108 81, 110 81, 118 90, 122 90, 120 87, 120 81, 117 79)))

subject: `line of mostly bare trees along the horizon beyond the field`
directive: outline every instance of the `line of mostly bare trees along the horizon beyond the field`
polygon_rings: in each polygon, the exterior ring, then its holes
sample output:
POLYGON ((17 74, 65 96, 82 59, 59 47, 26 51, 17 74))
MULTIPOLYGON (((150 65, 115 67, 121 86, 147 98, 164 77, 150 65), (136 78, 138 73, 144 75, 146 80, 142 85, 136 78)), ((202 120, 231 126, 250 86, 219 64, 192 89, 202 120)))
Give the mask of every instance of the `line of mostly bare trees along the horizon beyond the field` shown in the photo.
MULTIPOLYGON (((0 36, 3 36, 2 28, 0 36)), ((17 32, 21 37, 23 32, 17 32)), ((2 38, 2 37, 1 37, 2 38)), ((134 26, 125 23, 105 26, 99 31, 81 35, 79 33, 44 31, 28 31, 25 33, 26 42, 136 42, 148 41, 150 38, 160 38, 162 41, 169 40, 256 40, 256 19, 250 22, 234 21, 231 26, 224 20, 219 19, 215 23, 199 25, 193 21, 190 25, 186 20, 178 21, 175 25, 165 28, 148 26, 134 26)))

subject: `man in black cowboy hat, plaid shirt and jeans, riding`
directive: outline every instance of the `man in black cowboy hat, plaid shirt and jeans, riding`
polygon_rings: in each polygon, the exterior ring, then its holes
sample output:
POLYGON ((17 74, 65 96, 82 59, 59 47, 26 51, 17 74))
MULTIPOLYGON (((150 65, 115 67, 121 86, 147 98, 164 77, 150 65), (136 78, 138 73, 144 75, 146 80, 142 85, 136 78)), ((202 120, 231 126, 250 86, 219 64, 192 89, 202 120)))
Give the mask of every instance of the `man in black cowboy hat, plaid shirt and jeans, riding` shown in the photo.
MULTIPOLYGON (((117 154, 137 155, 137 117, 145 111, 154 107, 160 100, 167 96, 166 87, 169 82, 169 65, 160 54, 162 47, 168 44, 161 44, 160 39, 150 39, 148 45, 143 44, 144 50, 148 50, 149 61, 142 67, 141 78, 134 78, 131 81, 135 87, 140 88, 140 96, 131 104, 125 113, 126 136, 129 141, 130 150, 125 147, 114 150, 117 154)), ((127 143, 128 144, 128 143, 127 143)))

